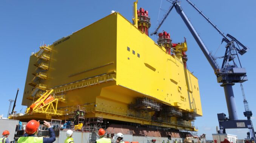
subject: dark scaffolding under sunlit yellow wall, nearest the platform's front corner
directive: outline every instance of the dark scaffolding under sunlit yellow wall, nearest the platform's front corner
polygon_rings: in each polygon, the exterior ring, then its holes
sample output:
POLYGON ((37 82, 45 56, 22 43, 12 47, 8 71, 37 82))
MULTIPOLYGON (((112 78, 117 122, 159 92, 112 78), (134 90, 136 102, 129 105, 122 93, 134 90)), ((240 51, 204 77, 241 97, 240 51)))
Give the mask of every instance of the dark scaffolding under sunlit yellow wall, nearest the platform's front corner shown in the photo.
POLYGON ((147 97, 137 98, 135 103, 130 104, 132 110, 144 110, 144 111, 160 111, 161 104, 156 100, 147 97))

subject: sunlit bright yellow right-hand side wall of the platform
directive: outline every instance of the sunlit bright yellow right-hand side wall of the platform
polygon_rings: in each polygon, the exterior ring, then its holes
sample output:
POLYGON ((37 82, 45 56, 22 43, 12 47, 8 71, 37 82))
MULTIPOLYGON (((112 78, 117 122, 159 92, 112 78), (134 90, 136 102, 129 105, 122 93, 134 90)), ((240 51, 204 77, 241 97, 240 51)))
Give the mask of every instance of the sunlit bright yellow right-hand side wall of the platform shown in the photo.
POLYGON ((117 84, 202 115, 199 90, 190 91, 198 87, 197 78, 122 15, 117 17, 117 84))

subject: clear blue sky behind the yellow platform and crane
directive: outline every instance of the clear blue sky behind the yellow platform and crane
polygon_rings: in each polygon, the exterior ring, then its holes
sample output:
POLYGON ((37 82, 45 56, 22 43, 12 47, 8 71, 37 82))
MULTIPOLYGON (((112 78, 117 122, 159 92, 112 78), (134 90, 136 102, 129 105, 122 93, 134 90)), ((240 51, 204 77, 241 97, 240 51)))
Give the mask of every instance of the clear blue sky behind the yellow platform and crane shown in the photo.
MULTIPOLYGON (((256 11, 254 0, 193 0, 199 9, 207 15, 225 33, 230 33, 250 48, 244 56, 240 56, 242 66, 247 69, 248 81, 244 83, 245 94, 253 113, 256 112, 254 54, 256 35, 256 11)), ((151 17, 150 33, 156 27, 161 0, 139 0, 138 8, 149 11, 151 17)), ((207 48, 213 53, 221 44, 222 37, 213 29, 185 0, 182 8, 190 18, 207 48)), ((39 50, 40 43, 52 44, 63 36, 69 35, 85 26, 110 14, 111 10, 120 12, 131 21, 133 0, 1 0, 0 1, 0 97, 2 98, 0 114, 6 116, 8 99, 14 99, 17 88, 20 88, 16 111, 25 111, 21 106, 31 52, 39 50)), ((159 20, 162 19, 170 3, 162 0, 159 20)), ((200 51, 187 27, 176 13, 171 12, 159 31, 166 30, 174 42, 182 42, 184 36, 188 42, 188 68, 199 79, 199 88, 203 108, 203 117, 197 117, 195 125, 199 134, 216 132, 217 113, 226 113, 224 90, 216 82, 210 64, 200 51)), ((156 36, 152 36, 156 40, 156 36)), ((216 56, 223 56, 224 45, 216 56)), ((244 105, 239 84, 233 86, 237 110, 240 119, 244 105)), ((255 113, 256 114, 256 113, 255 113)), ((255 117, 252 118, 256 126, 255 117)), ((246 137, 247 129, 228 130, 239 138, 246 137)))

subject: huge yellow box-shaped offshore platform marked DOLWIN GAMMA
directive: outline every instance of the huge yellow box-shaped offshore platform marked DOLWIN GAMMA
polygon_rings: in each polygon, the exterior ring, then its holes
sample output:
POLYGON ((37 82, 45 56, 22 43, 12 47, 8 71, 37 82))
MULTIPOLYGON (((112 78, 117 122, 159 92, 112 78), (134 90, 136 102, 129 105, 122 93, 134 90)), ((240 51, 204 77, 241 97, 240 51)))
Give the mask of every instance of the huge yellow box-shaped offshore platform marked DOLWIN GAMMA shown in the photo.
POLYGON ((41 46, 29 60, 22 100, 28 109, 16 118, 68 120, 79 107, 87 119, 196 131, 191 122, 202 107, 198 80, 184 65, 186 42, 156 44, 146 12, 134 10, 134 24, 114 12, 41 46))

